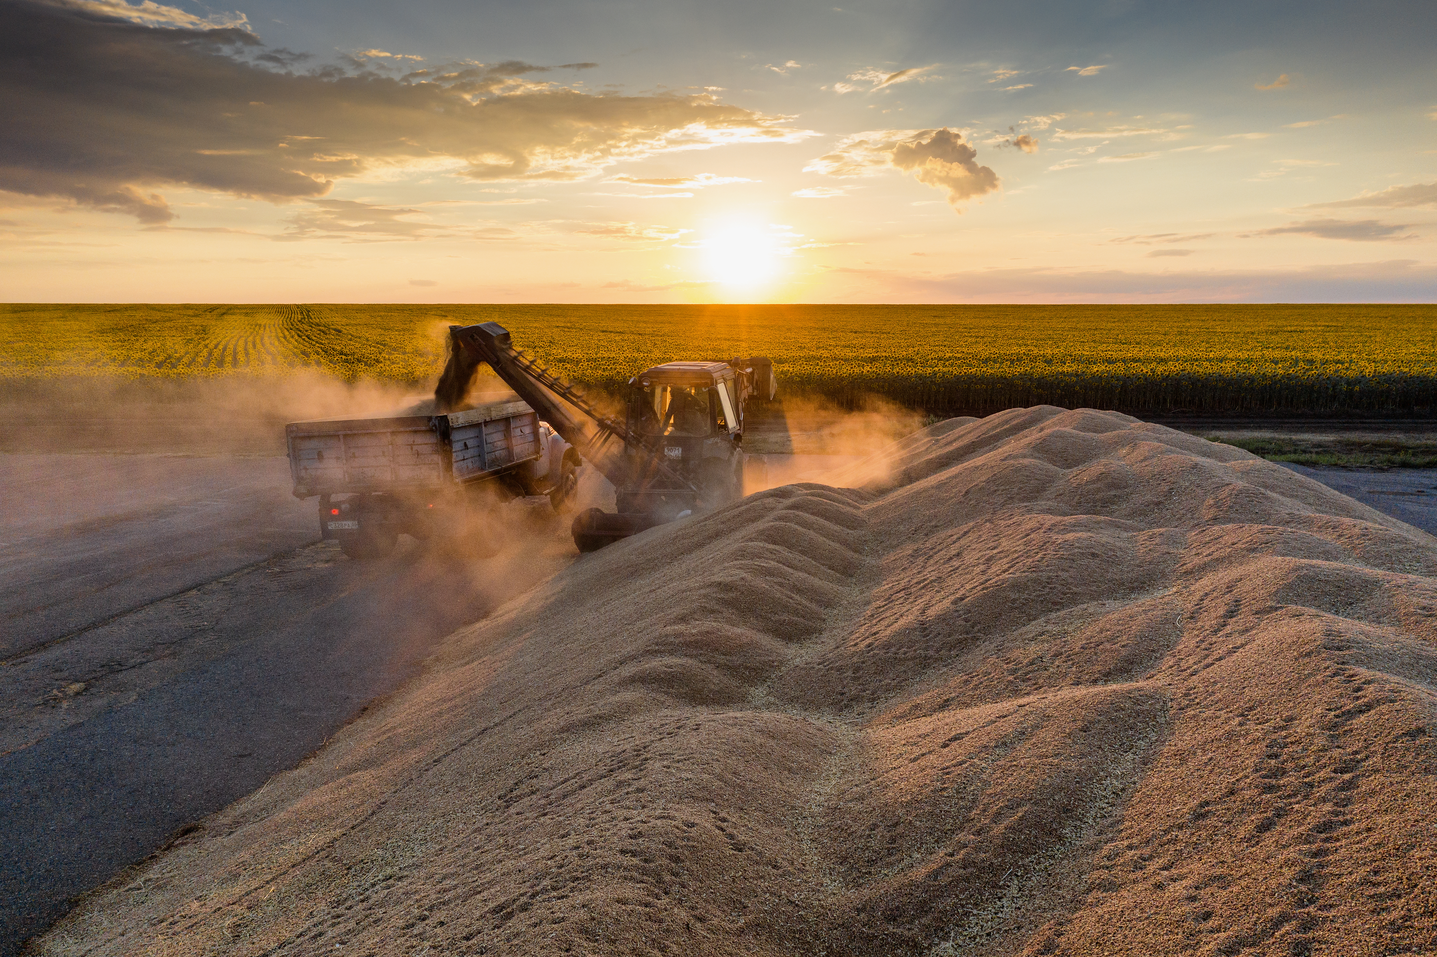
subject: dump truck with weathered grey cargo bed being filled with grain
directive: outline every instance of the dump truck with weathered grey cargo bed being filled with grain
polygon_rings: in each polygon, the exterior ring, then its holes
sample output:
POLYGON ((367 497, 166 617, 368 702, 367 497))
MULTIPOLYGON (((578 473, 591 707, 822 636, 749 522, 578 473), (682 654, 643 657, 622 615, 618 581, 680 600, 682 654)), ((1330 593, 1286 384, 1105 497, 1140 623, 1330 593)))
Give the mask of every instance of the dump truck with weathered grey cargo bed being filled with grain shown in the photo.
POLYGON ((520 496, 565 512, 578 487, 578 451, 523 401, 290 422, 285 438, 295 497, 318 497, 320 536, 356 559, 389 553, 399 535, 483 536, 520 496))

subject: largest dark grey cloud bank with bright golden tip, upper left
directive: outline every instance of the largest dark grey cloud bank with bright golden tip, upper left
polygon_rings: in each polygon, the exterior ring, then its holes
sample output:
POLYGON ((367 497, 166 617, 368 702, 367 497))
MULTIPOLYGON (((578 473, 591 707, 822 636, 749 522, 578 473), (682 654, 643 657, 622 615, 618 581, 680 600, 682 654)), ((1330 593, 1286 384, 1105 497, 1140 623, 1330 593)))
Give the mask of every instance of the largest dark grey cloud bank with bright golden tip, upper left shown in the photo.
POLYGON ((0 190, 164 223, 174 213, 160 190, 172 185, 287 203, 405 167, 569 181, 658 152, 809 135, 708 93, 589 93, 522 62, 402 76, 274 63, 296 57, 152 3, 6 0, 0 190))

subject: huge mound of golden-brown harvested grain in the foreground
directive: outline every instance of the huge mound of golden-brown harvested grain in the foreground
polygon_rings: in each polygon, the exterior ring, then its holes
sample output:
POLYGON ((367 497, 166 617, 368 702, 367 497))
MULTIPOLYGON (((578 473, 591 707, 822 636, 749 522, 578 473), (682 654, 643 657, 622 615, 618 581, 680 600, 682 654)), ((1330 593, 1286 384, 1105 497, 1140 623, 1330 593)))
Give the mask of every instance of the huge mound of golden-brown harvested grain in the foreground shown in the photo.
POLYGON ((891 458, 576 562, 40 948, 1437 948, 1437 542, 1111 412, 891 458))

